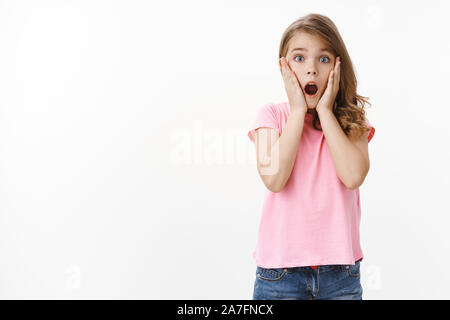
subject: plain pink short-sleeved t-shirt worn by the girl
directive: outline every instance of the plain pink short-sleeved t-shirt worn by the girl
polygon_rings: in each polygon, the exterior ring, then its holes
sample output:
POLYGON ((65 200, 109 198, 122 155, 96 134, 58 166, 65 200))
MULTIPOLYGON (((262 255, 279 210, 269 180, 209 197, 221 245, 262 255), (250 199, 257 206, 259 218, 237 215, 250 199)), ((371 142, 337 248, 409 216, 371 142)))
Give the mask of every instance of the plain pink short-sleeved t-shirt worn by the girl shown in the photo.
MULTIPOLYGON (((280 135, 290 114, 288 102, 260 107, 248 137, 257 128, 280 135)), ((359 188, 348 189, 337 176, 323 131, 305 123, 291 176, 278 193, 266 190, 253 258, 263 268, 354 264, 363 258, 359 240, 359 188)), ((368 134, 370 141, 375 128, 368 134)), ((319 126, 320 127, 320 126, 319 126)))

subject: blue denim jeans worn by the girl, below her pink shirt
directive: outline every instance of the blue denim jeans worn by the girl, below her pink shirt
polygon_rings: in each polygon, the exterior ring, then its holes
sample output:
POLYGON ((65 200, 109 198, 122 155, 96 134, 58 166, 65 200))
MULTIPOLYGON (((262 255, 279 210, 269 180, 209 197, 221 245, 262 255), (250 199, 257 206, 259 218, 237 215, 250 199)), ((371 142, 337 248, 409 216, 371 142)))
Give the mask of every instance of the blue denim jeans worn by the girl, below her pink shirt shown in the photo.
POLYGON ((257 266, 253 300, 362 300, 360 262, 318 269, 257 266))

